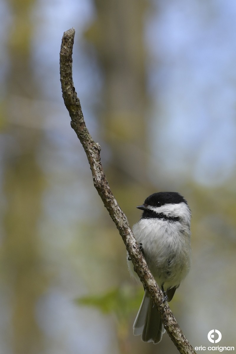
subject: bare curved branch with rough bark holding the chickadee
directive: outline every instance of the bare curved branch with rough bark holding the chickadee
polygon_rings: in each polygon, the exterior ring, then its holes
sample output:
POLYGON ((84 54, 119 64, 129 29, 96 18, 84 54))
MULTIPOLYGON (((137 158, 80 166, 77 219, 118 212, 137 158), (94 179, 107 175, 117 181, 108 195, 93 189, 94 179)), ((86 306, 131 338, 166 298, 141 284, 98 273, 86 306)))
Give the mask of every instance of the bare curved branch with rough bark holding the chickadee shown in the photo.
MULTIPOLYGON (((66 108, 71 118, 71 127, 80 139, 81 144, 90 164, 94 187, 97 189, 110 217, 116 224, 117 229, 125 243, 126 249, 133 262, 134 269, 142 281, 145 289, 148 290, 150 297, 155 303, 163 325, 171 337, 173 343, 182 354, 193 354, 194 349, 185 338, 178 323, 176 322, 167 302, 160 305, 163 296, 159 286, 156 284, 142 252, 139 250, 131 228, 129 227, 125 214, 120 209, 116 199, 111 193, 107 178, 104 174, 100 160, 100 146, 94 142, 85 125, 80 100, 75 92, 72 79, 72 50, 74 44, 74 28, 64 32, 60 51, 60 74, 62 84, 62 96, 66 108)), ((196 354, 196 353, 195 353, 196 354)))

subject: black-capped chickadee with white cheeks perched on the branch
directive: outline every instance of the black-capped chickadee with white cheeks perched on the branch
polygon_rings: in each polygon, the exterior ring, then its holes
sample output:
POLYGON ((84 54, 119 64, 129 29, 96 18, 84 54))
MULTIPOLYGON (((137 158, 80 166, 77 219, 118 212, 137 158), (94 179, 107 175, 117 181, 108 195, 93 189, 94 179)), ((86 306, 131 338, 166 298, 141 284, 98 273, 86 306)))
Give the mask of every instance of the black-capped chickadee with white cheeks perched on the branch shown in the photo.
MULTIPOLYGON (((143 210, 143 215, 133 225, 133 234, 165 294, 164 300, 171 301, 190 268, 191 211, 183 196, 176 192, 151 194, 137 208, 143 210)), ((129 259, 129 271, 137 277, 129 259)), ((155 344, 165 333, 160 315, 146 290, 133 324, 133 333, 142 335, 144 342, 155 344)))

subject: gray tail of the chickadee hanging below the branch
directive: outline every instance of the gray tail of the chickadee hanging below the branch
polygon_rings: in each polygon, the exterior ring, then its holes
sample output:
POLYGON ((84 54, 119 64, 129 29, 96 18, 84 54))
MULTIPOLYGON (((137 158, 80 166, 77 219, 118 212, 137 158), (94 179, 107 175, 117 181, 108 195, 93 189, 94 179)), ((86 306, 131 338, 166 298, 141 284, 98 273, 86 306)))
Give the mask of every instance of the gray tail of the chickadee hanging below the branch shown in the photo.
POLYGON ((161 341, 165 331, 160 315, 151 301, 149 293, 145 290, 142 303, 133 324, 134 335, 142 335, 144 342, 157 344, 161 341))

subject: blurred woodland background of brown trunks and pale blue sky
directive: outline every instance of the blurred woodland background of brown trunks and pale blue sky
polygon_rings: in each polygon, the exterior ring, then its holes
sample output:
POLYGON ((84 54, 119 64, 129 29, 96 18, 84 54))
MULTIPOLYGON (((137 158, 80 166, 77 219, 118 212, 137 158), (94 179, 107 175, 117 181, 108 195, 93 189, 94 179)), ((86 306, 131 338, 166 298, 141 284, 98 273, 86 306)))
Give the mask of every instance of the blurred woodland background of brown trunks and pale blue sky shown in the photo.
POLYGON ((236 2, 0 2, 0 353, 178 353, 134 337, 143 289, 64 107, 73 78, 130 224, 151 193, 192 210, 192 268, 171 302, 193 347, 235 346, 236 2))

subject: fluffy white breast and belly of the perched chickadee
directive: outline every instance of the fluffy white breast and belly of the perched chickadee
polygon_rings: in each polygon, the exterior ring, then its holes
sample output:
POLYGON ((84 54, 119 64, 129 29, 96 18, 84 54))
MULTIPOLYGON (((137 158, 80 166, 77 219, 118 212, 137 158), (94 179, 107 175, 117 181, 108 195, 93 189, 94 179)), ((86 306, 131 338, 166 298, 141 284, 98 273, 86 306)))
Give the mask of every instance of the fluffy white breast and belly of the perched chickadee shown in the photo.
POLYGON ((164 289, 179 285, 190 267, 189 224, 142 218, 134 224, 133 233, 143 245, 146 262, 157 283, 164 283, 164 289))

